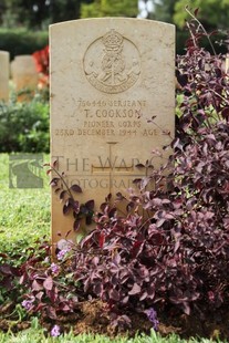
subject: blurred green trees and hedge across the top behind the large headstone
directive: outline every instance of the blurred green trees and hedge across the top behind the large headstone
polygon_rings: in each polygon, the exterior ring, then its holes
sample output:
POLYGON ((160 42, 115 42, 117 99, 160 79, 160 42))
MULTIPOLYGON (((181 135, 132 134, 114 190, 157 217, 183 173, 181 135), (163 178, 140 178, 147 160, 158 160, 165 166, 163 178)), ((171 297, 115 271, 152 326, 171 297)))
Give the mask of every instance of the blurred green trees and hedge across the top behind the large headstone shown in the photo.
MULTIPOLYGON (((131 17, 174 23, 177 27, 177 53, 184 53, 188 19, 186 7, 199 8, 198 19, 207 31, 220 30, 212 38, 217 52, 228 34, 229 0, 1 0, 0 50, 18 54, 32 53, 48 44, 49 24, 80 18, 131 17)), ((204 42, 208 48, 208 42, 204 42)))

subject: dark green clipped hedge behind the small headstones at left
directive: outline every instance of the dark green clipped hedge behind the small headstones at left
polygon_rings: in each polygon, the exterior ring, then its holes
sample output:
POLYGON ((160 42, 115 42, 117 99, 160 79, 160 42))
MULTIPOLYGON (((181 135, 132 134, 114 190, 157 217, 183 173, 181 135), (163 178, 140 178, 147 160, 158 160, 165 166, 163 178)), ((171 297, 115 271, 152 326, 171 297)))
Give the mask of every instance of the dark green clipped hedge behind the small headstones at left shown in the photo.
POLYGON ((0 50, 10 52, 10 59, 15 55, 32 54, 49 43, 48 31, 27 31, 25 29, 0 30, 0 50))

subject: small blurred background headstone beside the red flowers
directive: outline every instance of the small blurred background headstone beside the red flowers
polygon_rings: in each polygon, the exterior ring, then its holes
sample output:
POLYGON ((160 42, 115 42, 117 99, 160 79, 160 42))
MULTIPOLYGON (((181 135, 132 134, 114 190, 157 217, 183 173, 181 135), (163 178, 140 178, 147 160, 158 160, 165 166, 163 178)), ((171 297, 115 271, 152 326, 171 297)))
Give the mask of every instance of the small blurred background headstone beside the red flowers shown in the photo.
POLYGON ((11 63, 12 81, 19 101, 31 97, 38 86, 39 75, 32 55, 18 55, 11 63))

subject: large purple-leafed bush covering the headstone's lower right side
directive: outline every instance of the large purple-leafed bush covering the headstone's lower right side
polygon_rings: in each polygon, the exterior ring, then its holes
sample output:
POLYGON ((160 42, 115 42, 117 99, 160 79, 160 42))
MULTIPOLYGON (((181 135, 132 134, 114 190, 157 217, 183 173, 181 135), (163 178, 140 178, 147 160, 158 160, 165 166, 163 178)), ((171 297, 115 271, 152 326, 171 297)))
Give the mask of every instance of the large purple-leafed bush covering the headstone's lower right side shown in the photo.
POLYGON ((174 304, 189 314, 229 301, 228 75, 222 56, 199 46, 206 34, 199 23, 192 20, 189 29, 186 55, 177 58, 187 82, 174 154, 136 180, 140 194, 126 199, 126 216, 108 199, 103 204, 95 230, 74 254, 75 280, 113 309, 174 304))

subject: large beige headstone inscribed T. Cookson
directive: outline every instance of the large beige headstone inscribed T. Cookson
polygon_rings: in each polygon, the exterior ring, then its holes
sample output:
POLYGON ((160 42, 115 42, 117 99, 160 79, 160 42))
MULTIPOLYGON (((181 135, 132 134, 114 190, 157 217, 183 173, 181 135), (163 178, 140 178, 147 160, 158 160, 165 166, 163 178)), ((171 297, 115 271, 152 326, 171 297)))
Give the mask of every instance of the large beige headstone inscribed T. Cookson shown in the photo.
MULTIPOLYGON (((170 143, 175 27, 140 19, 76 20, 51 25, 50 44, 51 158, 69 186, 81 186, 79 200, 94 199, 98 208, 108 194, 126 195, 145 173, 136 165, 170 143)), ((62 206, 53 191, 53 243, 72 229, 62 206)))

